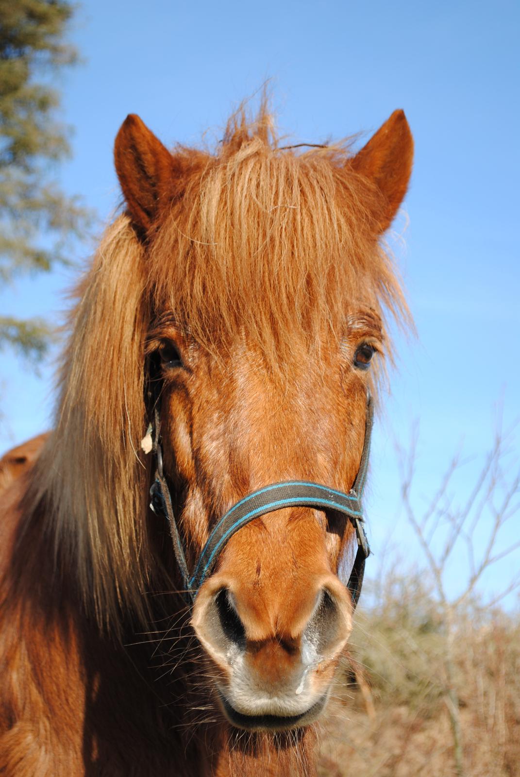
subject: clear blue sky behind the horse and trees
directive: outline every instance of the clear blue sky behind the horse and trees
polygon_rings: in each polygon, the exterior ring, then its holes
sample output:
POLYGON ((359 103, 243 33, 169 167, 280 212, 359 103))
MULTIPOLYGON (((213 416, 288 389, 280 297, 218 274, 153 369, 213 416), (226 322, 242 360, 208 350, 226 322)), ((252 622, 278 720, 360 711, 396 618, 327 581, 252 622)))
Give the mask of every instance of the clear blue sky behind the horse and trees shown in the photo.
MULTIPOLYGON (((416 161, 393 240, 417 325, 397 337, 398 369, 375 434, 370 533, 381 558, 388 535, 420 556, 399 514, 394 440, 420 422, 421 504, 455 449, 469 462, 464 496, 490 447, 495 407, 518 419, 518 5, 490 2, 180 3, 87 0, 71 38, 84 62, 65 74, 63 117, 75 126, 62 186, 99 214, 120 202, 113 138, 139 113, 172 144, 218 138, 241 99, 271 78, 281 131, 296 142, 361 132, 360 143, 396 108, 414 132, 416 161)), ((94 242, 78 246, 85 262, 94 242)), ((20 280, 0 295, 5 313, 61 320, 74 274, 20 280)), ((41 377, 0 354, 0 449, 49 427, 52 364, 41 377)), ((518 438, 511 467, 518 468, 518 438)), ((509 540, 520 535, 518 517, 509 540)), ((516 522, 514 522, 516 521, 516 522)), ((505 540, 504 540, 505 542, 505 540)), ((488 580, 497 587, 518 555, 488 580)), ((372 562, 377 566, 377 561, 372 562)), ((463 577, 455 561, 452 584, 463 577)))

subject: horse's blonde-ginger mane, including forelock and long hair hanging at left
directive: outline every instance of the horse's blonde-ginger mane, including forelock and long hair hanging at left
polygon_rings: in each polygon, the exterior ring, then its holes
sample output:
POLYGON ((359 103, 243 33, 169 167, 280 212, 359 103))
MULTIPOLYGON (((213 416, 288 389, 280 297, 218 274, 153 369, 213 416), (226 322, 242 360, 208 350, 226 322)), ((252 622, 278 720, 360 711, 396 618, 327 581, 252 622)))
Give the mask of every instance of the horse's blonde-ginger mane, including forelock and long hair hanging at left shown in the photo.
POLYGON ((179 176, 155 235, 142 242, 120 215, 79 284, 56 427, 30 490, 56 569, 70 570, 86 606, 116 629, 122 613, 146 619, 156 577, 139 448, 155 320, 174 315, 216 353, 246 333, 279 368, 295 340, 340 340, 353 304, 407 315, 374 237, 381 195, 351 169, 347 145, 282 149, 262 106, 254 121, 233 116, 215 152, 173 157, 179 176))

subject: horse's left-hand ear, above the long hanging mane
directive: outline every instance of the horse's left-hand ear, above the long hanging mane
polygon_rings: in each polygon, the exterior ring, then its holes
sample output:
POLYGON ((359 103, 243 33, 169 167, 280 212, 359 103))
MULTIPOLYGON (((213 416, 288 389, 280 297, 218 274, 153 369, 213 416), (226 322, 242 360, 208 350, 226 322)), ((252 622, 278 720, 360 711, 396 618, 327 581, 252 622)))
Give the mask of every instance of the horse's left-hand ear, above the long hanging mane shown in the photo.
POLYGON ((121 125, 113 156, 131 218, 146 232, 171 193, 173 156, 135 113, 121 125))

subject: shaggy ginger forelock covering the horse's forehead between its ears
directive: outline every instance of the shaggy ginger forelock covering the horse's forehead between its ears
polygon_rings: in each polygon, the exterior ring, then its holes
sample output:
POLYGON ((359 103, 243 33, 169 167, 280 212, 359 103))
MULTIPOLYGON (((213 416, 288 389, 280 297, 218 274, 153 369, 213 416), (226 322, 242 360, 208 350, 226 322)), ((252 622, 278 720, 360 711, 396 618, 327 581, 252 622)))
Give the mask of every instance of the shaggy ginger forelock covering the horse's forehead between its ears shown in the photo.
POLYGON ((352 305, 406 319, 372 215, 381 195, 348 147, 279 147, 263 106, 232 117, 213 154, 177 148, 185 176, 148 256, 155 309, 216 352, 242 329, 271 367, 302 336, 340 340, 352 305))

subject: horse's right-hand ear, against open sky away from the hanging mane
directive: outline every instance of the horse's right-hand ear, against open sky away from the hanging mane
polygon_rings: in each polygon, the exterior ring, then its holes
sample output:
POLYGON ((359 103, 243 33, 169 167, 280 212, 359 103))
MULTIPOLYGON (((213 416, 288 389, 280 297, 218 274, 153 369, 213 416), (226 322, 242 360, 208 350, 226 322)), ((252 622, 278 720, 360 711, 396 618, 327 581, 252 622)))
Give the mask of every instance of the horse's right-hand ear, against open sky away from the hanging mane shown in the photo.
POLYGON ((403 110, 394 110, 367 145, 351 160, 351 166, 372 180, 384 199, 374 214, 379 232, 385 232, 407 193, 414 158, 414 138, 403 110))

